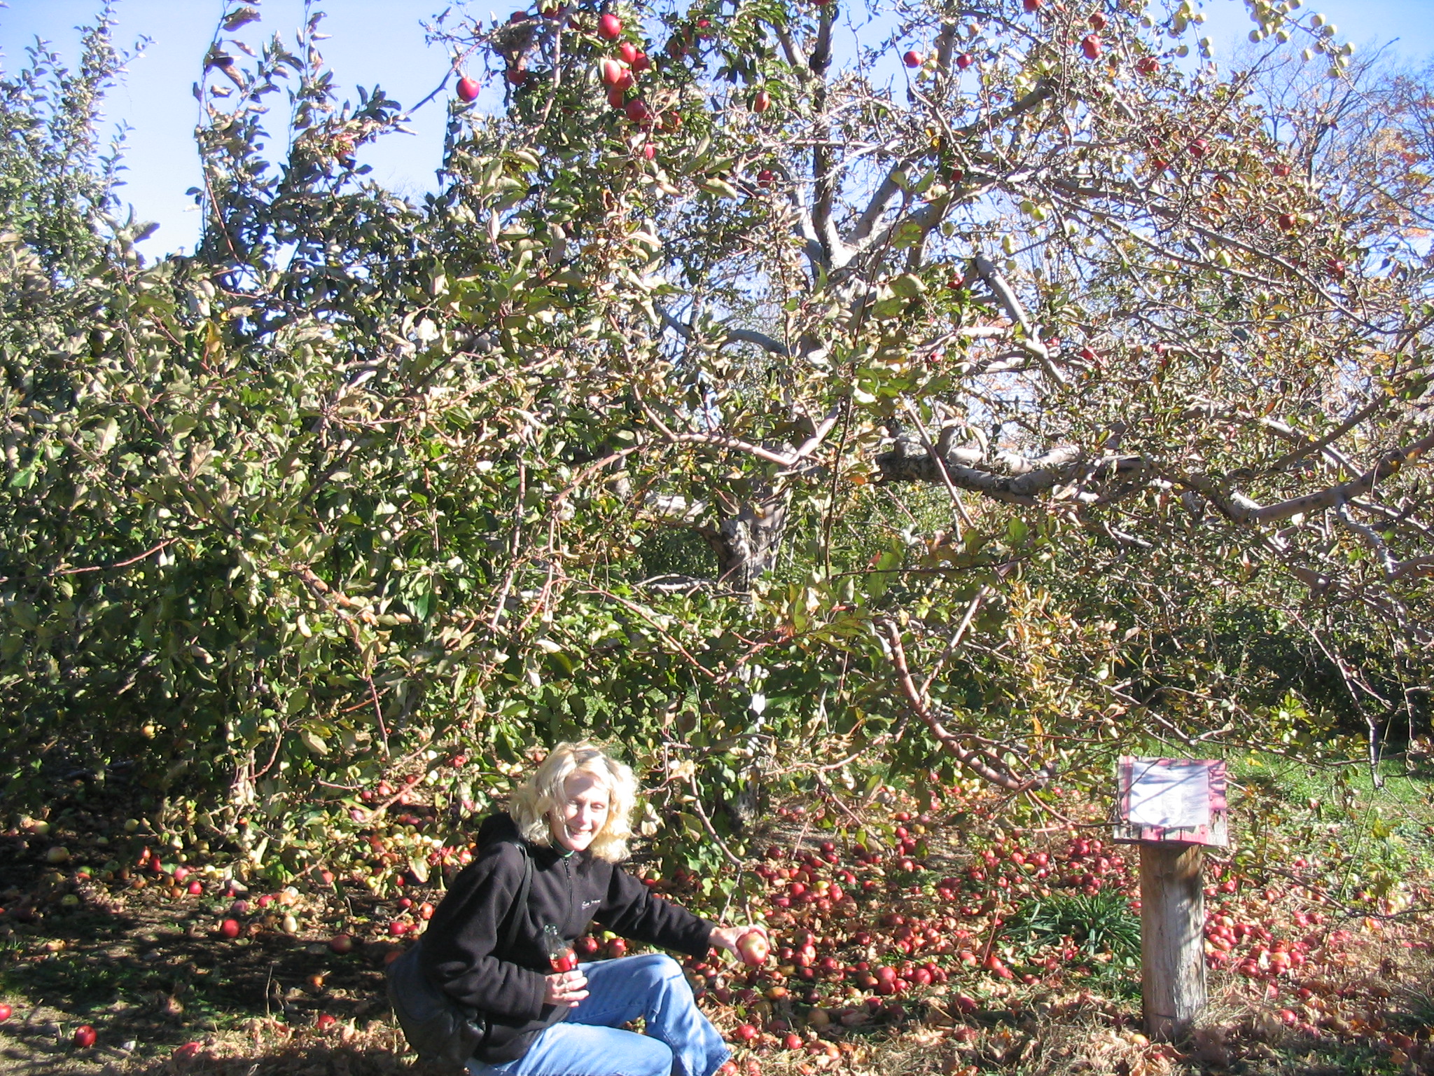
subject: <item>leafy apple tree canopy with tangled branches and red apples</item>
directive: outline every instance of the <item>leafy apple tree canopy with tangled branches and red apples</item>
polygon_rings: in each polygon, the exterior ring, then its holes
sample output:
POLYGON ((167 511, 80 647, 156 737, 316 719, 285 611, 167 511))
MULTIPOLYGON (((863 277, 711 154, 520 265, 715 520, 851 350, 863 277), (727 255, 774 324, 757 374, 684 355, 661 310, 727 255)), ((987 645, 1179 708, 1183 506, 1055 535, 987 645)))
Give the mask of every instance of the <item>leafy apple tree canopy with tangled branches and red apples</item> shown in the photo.
POLYGON ((716 856, 780 783, 1058 811, 1137 742, 1427 725, 1428 188, 1338 171, 1427 171, 1388 136, 1427 98, 1305 159, 1252 86, 1289 47, 1354 85, 1314 14, 1250 3, 1222 73, 1189 0, 1028 6, 450 9, 420 199, 357 165, 403 108, 336 99, 320 16, 235 6, 204 238, 152 264, 93 138, 108 22, 34 55, 7 795, 135 780, 284 871, 403 778, 460 822, 595 735, 716 856))

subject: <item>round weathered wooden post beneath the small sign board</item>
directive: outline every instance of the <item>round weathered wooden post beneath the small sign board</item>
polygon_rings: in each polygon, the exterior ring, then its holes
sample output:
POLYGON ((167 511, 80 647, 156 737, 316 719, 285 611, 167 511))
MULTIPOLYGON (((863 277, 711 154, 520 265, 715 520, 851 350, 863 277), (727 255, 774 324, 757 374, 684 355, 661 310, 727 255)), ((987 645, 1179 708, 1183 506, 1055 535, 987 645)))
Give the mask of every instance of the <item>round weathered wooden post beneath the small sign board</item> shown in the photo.
POLYGON ((1140 844, 1140 960, 1146 1034, 1184 1037, 1205 1009, 1205 849, 1140 844))

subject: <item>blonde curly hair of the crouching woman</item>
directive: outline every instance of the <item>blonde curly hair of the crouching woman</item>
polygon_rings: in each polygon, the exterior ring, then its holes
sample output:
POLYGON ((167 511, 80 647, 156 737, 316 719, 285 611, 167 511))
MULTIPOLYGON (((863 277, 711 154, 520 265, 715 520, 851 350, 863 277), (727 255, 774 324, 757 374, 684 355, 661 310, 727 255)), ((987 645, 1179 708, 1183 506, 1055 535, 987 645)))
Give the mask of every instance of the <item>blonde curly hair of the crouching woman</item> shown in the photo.
POLYGON ((523 839, 535 845, 552 844, 552 816, 566 799, 564 783, 574 773, 591 773, 608 792, 608 818, 588 845, 598 859, 621 862, 628 858, 632 836, 632 808, 637 805, 637 778, 632 769, 614 759, 595 743, 559 743, 539 763, 533 775, 513 791, 508 808, 523 839))

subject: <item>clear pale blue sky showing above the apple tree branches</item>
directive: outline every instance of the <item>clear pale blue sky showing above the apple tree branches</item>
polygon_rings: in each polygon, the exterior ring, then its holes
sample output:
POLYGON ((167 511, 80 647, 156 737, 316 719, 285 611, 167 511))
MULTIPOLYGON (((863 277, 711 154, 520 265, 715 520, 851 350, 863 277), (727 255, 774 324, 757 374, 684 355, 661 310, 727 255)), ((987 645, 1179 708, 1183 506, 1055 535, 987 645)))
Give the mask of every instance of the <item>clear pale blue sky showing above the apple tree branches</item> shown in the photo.
MULTIPOLYGON (((255 0, 250 0, 254 3, 255 0)), ((36 36, 52 42, 73 60, 77 56, 76 26, 86 22, 100 0, 9 0, 0 7, 0 65, 14 70, 24 62, 24 49, 36 36)), ((125 82, 112 90, 106 105, 110 125, 123 122, 132 131, 126 188, 122 198, 139 217, 159 222, 146 244, 151 254, 188 248, 198 234, 198 214, 185 189, 198 181, 198 162, 191 141, 198 119, 198 102, 189 88, 199 76, 204 52, 215 23, 235 3, 219 0, 119 0, 118 42, 128 44, 141 36, 152 39, 145 53, 129 66, 125 82)), ((293 40, 303 0, 262 0, 264 32, 281 30, 293 40)), ((516 3, 482 3, 470 11, 488 17, 506 14, 516 3)), ((328 0, 324 29, 333 37, 323 43, 324 57, 340 85, 383 86, 389 96, 407 105, 433 90, 447 70, 447 56, 427 47, 420 22, 443 7, 439 0, 394 3, 393 0, 328 0)), ((1342 40, 1358 46, 1398 39, 1395 46, 1411 60, 1434 55, 1434 0, 1308 0, 1305 10, 1326 14, 1342 40)), ((1250 22, 1239 0, 1207 0, 1206 33, 1222 50, 1249 33, 1250 22)), ((257 40, 254 26, 245 29, 257 40)), ((374 178, 393 189, 417 194, 433 184, 443 139, 445 105, 436 100, 413 116, 413 136, 394 136, 367 149, 363 161, 374 178)))

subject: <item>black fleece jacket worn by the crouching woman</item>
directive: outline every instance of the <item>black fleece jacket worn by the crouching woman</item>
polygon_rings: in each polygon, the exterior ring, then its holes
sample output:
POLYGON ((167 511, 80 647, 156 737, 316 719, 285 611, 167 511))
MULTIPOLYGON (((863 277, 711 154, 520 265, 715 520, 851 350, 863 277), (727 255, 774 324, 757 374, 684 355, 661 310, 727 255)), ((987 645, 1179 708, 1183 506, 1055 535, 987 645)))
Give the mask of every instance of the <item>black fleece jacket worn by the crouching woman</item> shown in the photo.
POLYGON ((500 951, 508 911, 523 879, 518 841, 518 826, 508 815, 485 819, 478 858, 449 885, 423 933, 424 974, 488 1020, 488 1034, 475 1052, 488 1065, 522 1057, 541 1030, 568 1013, 566 1006, 545 1006, 542 1000, 543 977, 551 974, 543 924, 571 940, 597 920, 625 938, 693 955, 703 955, 711 944, 713 924, 654 897, 621 867, 588 852, 562 854, 561 848, 529 844, 533 879, 528 907, 519 915, 513 947, 500 951))

